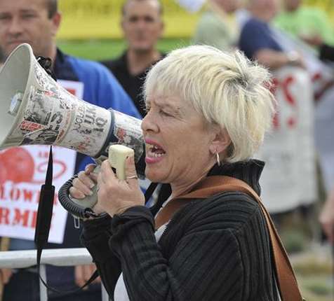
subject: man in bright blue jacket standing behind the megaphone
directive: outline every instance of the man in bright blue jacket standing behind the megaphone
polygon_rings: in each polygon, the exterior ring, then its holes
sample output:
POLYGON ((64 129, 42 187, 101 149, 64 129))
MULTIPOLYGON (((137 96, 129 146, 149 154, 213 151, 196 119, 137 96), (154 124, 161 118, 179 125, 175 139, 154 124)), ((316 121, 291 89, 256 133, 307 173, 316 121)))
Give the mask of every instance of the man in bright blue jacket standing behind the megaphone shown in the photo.
MULTIPOLYGON (((83 99, 91 104, 105 108, 112 107, 131 116, 140 118, 131 99, 117 80, 104 66, 78 59, 61 52, 55 44, 55 35, 61 22, 57 0, 0 0, 0 48, 7 57, 21 43, 29 43, 34 55, 50 57, 56 78, 80 83, 83 87, 83 99)), ((29 146, 34 148, 35 146, 29 146)), ((15 156, 15 152, 12 152, 15 156)), ((74 159, 74 172, 83 169, 90 158, 78 154, 74 159)), ((15 166, 14 166, 15 167, 15 166)), ((14 168, 13 167, 13 168, 14 168)), ((62 244, 48 244, 48 248, 80 247, 79 231, 74 229, 72 216, 67 216, 67 225, 62 244)), ((34 242, 23 239, 11 239, 11 250, 34 248, 34 242)), ((75 283, 83 285, 93 274, 95 267, 48 267, 48 283, 60 290, 72 290, 75 283)), ((39 277, 35 268, 20 269, 8 274, 4 270, 4 301, 39 300, 39 277), (6 276, 6 277, 4 277, 6 276)), ((91 286, 86 291, 67 296, 50 293, 49 300, 100 300, 100 286, 91 286)))

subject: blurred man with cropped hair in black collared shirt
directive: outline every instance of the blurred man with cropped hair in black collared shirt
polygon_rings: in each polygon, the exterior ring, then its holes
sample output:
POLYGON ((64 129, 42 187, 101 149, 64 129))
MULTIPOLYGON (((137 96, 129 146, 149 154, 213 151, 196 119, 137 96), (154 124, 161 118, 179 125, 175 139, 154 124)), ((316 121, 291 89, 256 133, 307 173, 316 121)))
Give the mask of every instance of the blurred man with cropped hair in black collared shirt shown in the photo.
POLYGON ((122 8, 121 28, 128 48, 117 59, 102 62, 116 76, 145 116, 142 85, 147 69, 164 54, 156 49, 163 34, 163 8, 159 0, 127 0, 122 8))

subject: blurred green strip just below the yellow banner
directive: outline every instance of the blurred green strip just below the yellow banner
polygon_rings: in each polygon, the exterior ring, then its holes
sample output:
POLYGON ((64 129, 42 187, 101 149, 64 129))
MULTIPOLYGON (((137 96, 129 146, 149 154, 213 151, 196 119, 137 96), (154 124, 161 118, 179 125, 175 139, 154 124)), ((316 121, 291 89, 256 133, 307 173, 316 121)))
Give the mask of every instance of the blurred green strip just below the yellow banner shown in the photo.
MULTIPOLYGON (((189 43, 189 38, 165 38, 159 41, 158 48, 163 52, 168 52, 189 45, 189 43)), ((126 43, 123 40, 58 41, 58 46, 69 55, 102 60, 121 55, 126 48, 126 43)))

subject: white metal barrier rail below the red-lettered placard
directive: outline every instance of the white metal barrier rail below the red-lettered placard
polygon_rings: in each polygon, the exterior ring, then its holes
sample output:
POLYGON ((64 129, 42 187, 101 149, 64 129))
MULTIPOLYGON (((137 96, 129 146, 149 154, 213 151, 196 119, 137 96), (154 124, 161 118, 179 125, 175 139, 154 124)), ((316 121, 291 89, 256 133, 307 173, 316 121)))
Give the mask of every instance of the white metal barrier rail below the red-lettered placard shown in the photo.
MULTIPOLYGON (((58 267, 88 265, 92 262, 86 248, 54 248, 44 250, 41 256, 41 277, 46 281, 46 265, 58 267)), ((20 269, 36 265, 36 250, 0 252, 0 268, 20 269)), ((102 285, 102 301, 109 301, 107 291, 102 285)), ((48 300, 48 292, 39 281, 40 300, 48 300)))

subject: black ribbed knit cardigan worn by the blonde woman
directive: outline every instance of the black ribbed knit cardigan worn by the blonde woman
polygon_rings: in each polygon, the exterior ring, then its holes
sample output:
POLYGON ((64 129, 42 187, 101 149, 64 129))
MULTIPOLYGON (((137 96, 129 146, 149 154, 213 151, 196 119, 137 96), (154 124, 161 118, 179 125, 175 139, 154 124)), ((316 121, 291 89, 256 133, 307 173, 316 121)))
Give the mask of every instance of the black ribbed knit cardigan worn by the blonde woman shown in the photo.
MULTIPOLYGON (((215 166, 260 194, 264 163, 215 166)), ((279 300, 272 247, 257 202, 239 192, 189 200, 154 237, 154 217, 133 207, 114 218, 86 221, 81 239, 111 300, 121 272, 130 300, 279 300)))

